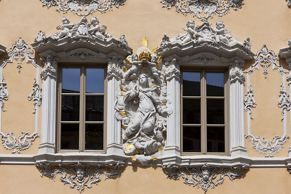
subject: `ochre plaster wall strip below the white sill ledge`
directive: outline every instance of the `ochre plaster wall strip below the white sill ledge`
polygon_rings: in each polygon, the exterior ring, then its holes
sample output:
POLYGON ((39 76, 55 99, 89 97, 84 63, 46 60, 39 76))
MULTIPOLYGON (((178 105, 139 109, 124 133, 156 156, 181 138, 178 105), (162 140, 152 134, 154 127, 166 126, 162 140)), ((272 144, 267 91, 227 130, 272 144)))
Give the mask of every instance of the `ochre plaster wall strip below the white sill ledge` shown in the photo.
MULTIPOLYGON (((0 165, 0 172, 6 172, 0 178, 1 183, 5 182, 1 186, 1 193, 79 193, 76 187, 64 185, 59 174, 55 182, 48 177, 40 177, 40 172, 34 166, 0 165)), ((226 177, 223 184, 215 189, 208 188, 207 194, 290 193, 291 176, 286 168, 251 168, 242 176, 234 181, 226 177)), ((204 193, 201 188, 184 184, 182 177, 180 180, 167 179, 160 167, 126 166, 119 178, 103 182, 104 176, 101 177, 98 185, 85 187, 84 193, 204 193)))

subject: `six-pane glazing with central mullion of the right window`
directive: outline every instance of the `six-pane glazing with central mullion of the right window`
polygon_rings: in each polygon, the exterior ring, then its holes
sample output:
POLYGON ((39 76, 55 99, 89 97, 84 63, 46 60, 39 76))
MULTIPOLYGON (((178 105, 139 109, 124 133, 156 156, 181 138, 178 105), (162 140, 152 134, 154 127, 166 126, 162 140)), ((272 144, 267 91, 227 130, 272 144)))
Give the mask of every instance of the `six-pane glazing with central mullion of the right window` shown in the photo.
POLYGON ((226 155, 225 71, 183 71, 183 153, 226 155))

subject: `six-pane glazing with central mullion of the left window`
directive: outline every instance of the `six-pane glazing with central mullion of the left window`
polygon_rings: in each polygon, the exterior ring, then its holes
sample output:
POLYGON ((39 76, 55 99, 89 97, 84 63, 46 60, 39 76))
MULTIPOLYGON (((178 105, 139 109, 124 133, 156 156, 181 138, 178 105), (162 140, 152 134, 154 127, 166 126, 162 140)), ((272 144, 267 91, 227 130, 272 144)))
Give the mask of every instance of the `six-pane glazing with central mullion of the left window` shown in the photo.
POLYGON ((104 150, 104 69, 62 68, 60 87, 58 150, 104 150))

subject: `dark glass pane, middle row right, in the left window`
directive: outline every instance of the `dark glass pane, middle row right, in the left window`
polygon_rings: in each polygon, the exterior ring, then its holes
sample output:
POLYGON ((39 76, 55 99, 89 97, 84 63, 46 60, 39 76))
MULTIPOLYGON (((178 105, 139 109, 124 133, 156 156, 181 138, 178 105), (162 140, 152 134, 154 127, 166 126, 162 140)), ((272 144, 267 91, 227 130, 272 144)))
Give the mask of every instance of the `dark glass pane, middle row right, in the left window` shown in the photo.
POLYGON ((104 96, 86 96, 86 121, 104 121, 104 96))

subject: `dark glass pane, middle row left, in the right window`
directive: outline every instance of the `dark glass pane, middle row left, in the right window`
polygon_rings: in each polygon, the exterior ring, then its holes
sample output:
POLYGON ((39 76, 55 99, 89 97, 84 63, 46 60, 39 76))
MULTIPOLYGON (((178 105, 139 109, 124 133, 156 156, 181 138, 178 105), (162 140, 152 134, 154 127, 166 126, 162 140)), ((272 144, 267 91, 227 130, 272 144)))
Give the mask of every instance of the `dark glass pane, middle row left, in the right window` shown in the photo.
POLYGON ((183 124, 200 124, 200 99, 183 98, 183 124))

